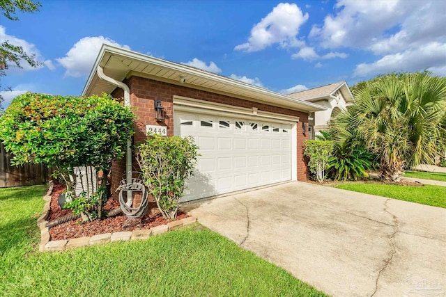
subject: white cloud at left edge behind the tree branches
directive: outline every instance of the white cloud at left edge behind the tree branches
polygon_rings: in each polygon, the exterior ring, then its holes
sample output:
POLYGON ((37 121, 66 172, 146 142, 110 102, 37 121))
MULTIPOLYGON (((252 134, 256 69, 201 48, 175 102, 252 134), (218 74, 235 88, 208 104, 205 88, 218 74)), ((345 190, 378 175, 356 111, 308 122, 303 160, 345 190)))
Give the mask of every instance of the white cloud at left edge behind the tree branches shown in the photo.
POLYGON ((13 35, 6 34, 6 28, 4 26, 0 25, 0 42, 6 42, 8 41, 11 45, 16 45, 18 47, 22 47, 23 51, 28 54, 29 56, 35 56, 36 60, 42 63, 39 67, 31 67, 28 62, 24 61, 23 59, 19 62, 22 68, 15 67, 14 63, 10 63, 10 68, 8 71, 30 71, 30 70, 38 70, 43 67, 48 67, 49 70, 54 70, 54 65, 52 64, 52 61, 46 60, 43 58, 42 54, 40 54, 40 51, 37 49, 36 45, 33 45, 32 43, 27 42, 24 39, 17 38, 13 35))

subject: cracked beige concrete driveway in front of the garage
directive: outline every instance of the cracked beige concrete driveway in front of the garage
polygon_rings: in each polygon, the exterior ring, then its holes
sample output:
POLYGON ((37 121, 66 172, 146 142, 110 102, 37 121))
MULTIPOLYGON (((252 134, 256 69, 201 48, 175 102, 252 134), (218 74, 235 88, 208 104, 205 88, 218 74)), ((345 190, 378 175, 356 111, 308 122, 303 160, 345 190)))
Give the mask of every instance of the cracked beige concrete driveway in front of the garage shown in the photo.
POLYGON ((446 209, 302 182, 185 208, 332 296, 446 294, 446 209))

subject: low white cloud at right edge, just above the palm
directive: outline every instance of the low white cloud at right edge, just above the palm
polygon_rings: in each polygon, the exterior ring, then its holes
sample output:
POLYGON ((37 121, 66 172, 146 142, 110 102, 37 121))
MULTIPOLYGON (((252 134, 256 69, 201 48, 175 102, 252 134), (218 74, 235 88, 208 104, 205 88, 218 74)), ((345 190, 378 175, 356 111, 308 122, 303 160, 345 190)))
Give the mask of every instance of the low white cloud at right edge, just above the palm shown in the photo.
POLYGON ((426 68, 441 74, 445 67, 446 43, 430 42, 416 49, 383 56, 374 63, 361 63, 356 66, 353 76, 367 77, 392 71, 414 72, 426 68))

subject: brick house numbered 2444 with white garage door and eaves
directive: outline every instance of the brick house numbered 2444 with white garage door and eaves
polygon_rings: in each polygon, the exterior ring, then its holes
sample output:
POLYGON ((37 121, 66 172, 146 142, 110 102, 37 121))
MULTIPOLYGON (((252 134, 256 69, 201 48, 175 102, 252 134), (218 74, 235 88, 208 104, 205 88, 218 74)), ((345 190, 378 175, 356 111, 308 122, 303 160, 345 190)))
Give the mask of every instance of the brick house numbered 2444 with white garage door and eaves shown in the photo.
MULTIPOLYGON (((110 45, 102 45, 82 91, 85 96, 101 93, 134 107, 134 145, 144 141, 149 129, 194 137, 201 156, 183 201, 306 180, 302 150, 308 115, 326 109, 110 45)), ((126 171, 138 170, 134 156, 128 156, 113 164, 112 193, 126 171)))

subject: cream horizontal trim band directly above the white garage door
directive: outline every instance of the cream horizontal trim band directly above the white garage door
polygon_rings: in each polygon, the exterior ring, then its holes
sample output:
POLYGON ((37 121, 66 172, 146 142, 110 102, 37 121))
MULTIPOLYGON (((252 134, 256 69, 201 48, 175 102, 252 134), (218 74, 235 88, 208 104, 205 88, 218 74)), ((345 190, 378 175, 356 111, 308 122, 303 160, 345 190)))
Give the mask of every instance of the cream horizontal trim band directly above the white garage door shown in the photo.
POLYGON ((299 117, 291 115, 282 115, 279 113, 271 113, 269 111, 259 111, 256 107, 247 109, 245 107, 238 107, 229 104, 221 104, 215 102, 208 102, 199 99, 189 98, 174 95, 174 110, 178 111, 190 111, 195 113, 202 113, 203 110, 206 113, 212 113, 214 115, 228 115, 236 114, 243 115, 243 118, 267 118, 273 122, 279 122, 282 124, 289 124, 290 122, 299 122, 299 117))

